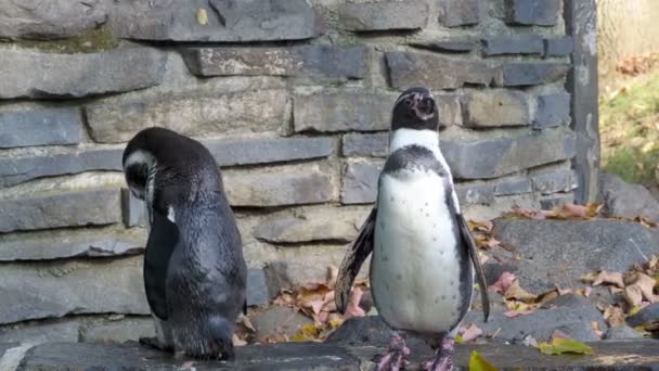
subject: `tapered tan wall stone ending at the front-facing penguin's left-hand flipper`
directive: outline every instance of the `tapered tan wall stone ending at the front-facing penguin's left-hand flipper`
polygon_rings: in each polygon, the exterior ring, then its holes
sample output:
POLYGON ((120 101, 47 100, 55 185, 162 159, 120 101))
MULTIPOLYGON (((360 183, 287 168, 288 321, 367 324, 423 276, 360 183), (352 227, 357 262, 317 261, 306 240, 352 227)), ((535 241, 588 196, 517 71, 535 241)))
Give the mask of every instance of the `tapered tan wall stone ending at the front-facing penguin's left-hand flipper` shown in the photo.
POLYGON ((369 210, 323 207, 271 215, 254 229, 254 236, 271 243, 350 242, 369 210))

